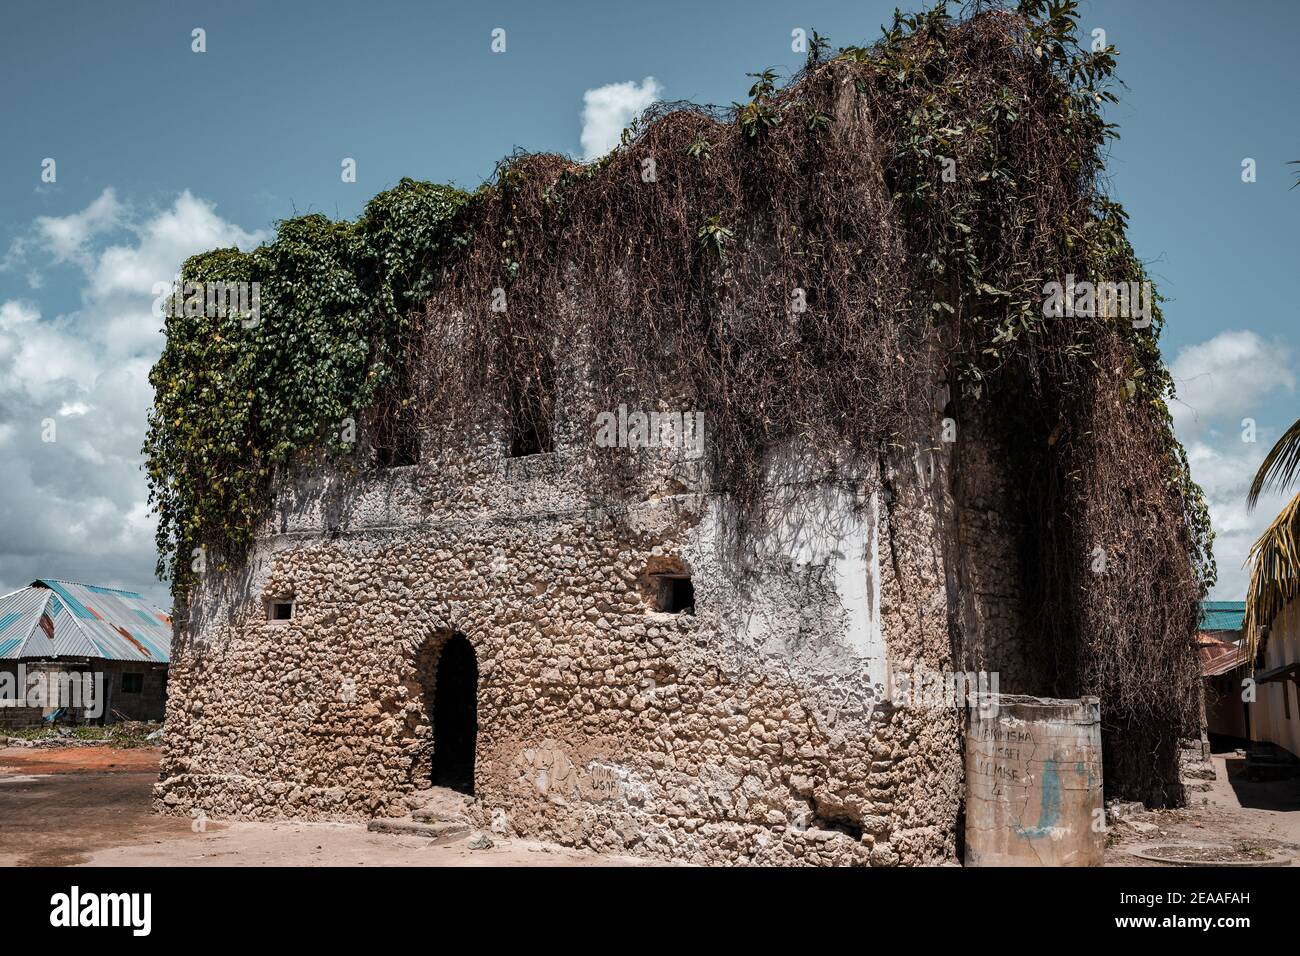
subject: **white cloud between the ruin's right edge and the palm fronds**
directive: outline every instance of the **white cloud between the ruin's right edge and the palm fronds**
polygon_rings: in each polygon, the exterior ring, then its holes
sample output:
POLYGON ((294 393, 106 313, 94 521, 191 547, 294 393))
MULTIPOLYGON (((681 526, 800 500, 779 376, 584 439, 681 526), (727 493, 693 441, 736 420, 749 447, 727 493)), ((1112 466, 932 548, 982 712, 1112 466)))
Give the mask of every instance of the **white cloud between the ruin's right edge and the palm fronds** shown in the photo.
MULTIPOLYGON (((1219 583, 1213 597, 1242 600, 1249 580, 1243 562, 1251 545, 1291 496, 1262 496, 1247 511, 1245 496, 1260 462, 1290 419, 1271 420, 1278 399, 1295 394, 1291 350, 1253 332, 1221 332, 1183 349, 1170 364, 1178 388, 1171 411, 1187 447, 1192 477, 1205 492, 1216 532, 1219 583), (1254 423, 1254 441, 1248 441, 1254 423)), ((1290 410, 1290 402, 1282 402, 1290 410)), ((1274 416, 1275 419, 1275 416, 1274 416)))

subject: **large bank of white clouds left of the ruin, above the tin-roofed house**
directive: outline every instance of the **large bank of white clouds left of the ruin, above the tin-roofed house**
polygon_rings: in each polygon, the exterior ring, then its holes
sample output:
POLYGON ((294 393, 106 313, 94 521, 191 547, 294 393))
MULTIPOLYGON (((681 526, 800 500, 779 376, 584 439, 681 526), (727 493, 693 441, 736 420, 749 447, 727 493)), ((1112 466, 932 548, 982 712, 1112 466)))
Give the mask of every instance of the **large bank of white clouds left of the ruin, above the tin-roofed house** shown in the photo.
POLYGON ((104 190, 79 212, 35 220, 10 248, 25 264, 74 263, 83 285, 69 315, 0 302, 0 593, 55 576, 166 606, 140 471, 148 371, 162 346, 153 285, 195 252, 264 238, 190 193, 140 217, 104 190))

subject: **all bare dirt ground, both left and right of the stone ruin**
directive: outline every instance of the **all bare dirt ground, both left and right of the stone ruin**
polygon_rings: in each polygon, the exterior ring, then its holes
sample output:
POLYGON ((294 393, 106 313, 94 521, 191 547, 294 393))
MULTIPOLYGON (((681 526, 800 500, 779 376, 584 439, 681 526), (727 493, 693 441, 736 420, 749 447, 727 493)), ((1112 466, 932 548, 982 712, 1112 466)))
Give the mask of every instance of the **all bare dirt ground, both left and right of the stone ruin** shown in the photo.
MULTIPOLYGON (((1300 865, 1300 779, 1252 783, 1244 761, 1216 754, 1218 779, 1180 810, 1134 812, 1110 829, 1108 866, 1158 866, 1152 844, 1210 844, 1300 865)), ((0 866, 624 866, 599 856, 493 838, 430 845, 363 823, 221 823, 202 829, 150 809, 159 749, 0 749, 0 866)), ((1209 857, 1213 860, 1213 853, 1209 857)))

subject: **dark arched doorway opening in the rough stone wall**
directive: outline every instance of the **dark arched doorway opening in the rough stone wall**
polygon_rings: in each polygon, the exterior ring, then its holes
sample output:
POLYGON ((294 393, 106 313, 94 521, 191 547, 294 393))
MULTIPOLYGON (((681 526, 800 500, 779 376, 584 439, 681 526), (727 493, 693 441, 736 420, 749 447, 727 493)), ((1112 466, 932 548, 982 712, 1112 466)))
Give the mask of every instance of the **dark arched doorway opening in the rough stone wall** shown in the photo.
POLYGON ((464 635, 447 639, 433 687, 433 786, 474 792, 478 662, 464 635))

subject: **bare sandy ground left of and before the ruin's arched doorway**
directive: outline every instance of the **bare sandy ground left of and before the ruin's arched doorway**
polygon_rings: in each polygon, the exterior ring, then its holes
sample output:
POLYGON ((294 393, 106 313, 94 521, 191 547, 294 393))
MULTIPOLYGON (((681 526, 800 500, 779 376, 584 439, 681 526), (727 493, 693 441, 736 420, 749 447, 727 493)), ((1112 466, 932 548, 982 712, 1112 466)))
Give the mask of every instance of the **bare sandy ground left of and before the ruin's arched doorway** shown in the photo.
POLYGON ((525 840, 428 840, 364 823, 194 823, 151 812, 156 748, 0 749, 0 866, 624 866, 525 840))

